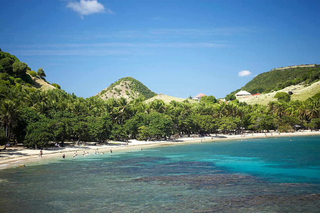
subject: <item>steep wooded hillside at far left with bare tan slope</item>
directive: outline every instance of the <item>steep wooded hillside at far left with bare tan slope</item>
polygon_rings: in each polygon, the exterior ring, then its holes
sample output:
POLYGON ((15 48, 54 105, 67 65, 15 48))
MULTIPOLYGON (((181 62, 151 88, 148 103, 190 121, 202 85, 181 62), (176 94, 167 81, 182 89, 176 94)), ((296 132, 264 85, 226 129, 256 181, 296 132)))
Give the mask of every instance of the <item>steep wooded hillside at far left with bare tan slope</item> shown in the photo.
MULTIPOLYGON (((3 52, 0 49, 0 86, 16 87, 19 90, 22 88, 33 90, 56 88, 50 85, 44 77, 46 75, 42 68, 35 72, 14 55, 3 52)), ((60 87, 57 84, 54 85, 60 87)))

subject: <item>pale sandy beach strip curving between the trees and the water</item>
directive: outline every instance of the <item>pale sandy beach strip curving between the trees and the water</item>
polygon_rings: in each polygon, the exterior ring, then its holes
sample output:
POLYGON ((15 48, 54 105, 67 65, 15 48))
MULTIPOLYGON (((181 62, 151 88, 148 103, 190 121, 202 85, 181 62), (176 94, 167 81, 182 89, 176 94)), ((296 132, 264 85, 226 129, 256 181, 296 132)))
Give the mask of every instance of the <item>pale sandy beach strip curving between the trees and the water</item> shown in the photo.
MULTIPOLYGON (((299 135, 320 135, 320 131, 318 132, 310 132, 309 130, 304 132, 295 132, 295 133, 272 133, 272 137, 278 137, 278 136, 299 136, 299 135)), ((93 143, 86 143, 85 146, 76 146, 68 144, 65 147, 46 147, 43 150, 43 158, 48 158, 56 155, 65 154, 66 156, 73 156, 75 152, 77 152, 78 155, 82 155, 83 152, 95 152, 95 150, 99 150, 99 152, 105 152, 105 154, 109 154, 110 149, 112 150, 118 150, 118 149, 128 149, 133 148, 136 146, 151 146, 151 145, 159 145, 159 144, 177 144, 177 143, 198 143, 203 140, 203 142, 218 142, 222 140, 228 140, 228 139, 247 139, 252 140, 252 138, 258 138, 258 137, 265 137, 264 133, 253 133, 253 135, 245 134, 245 137, 241 137, 241 135, 221 135, 218 134, 217 137, 215 137, 215 134, 212 134, 213 140, 211 139, 211 136, 205 136, 205 137, 199 137, 199 138, 193 138, 195 135, 190 135, 190 137, 187 137, 187 135, 183 135, 184 137, 181 137, 177 140, 162 140, 162 141, 138 141, 138 140, 129 140, 130 143, 128 144, 128 147, 126 146, 125 142, 110 142, 107 145, 102 146, 96 146, 93 143)), ((271 137, 271 133, 267 133, 267 137, 271 137)), ((12 163, 15 161, 20 161, 21 164, 25 164, 27 160, 29 159, 38 159, 38 154, 40 150, 39 149, 28 149, 24 147, 8 147, 7 150, 0 152, 0 165, 12 163)), ((0 167, 1 168, 1 167, 0 167)))

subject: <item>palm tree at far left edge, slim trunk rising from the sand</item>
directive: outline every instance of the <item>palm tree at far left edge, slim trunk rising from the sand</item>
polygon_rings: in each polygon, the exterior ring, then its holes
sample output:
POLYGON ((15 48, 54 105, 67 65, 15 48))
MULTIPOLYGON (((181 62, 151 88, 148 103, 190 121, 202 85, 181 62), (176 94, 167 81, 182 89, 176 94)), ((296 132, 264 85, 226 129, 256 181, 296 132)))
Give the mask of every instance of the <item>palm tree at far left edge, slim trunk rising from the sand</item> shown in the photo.
MULTIPOLYGON (((0 105, 0 124, 5 128, 5 136, 8 137, 8 143, 10 142, 10 130, 18 123, 20 101, 5 100, 0 105)), ((4 145, 3 150, 6 149, 7 143, 4 145)))

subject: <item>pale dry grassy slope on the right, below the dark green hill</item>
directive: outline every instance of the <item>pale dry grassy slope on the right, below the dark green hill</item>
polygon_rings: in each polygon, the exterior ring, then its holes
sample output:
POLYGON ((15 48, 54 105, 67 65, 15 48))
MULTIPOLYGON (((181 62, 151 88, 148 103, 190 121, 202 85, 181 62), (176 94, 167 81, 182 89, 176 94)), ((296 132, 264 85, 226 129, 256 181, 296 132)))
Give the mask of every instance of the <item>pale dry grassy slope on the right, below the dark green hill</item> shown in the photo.
POLYGON ((315 95, 316 93, 320 92, 320 81, 317 81, 315 83, 313 83, 310 86, 303 86, 303 85, 292 85, 292 86, 288 86, 284 89, 281 89, 279 91, 276 92, 272 92, 272 93, 267 93, 267 94, 260 94, 260 95, 255 95, 255 96, 251 96, 251 97, 247 97, 247 98, 243 98, 243 97, 238 97, 239 101, 244 101, 248 104, 255 104, 255 103, 259 103, 259 104, 268 104, 268 102, 270 101, 276 101, 277 99, 274 98, 275 94, 277 92, 288 92, 288 91, 292 91, 293 94, 291 95, 291 100, 300 100, 300 101, 304 101, 306 99, 308 99, 309 97, 315 95), (296 90, 292 90, 296 88, 296 90))

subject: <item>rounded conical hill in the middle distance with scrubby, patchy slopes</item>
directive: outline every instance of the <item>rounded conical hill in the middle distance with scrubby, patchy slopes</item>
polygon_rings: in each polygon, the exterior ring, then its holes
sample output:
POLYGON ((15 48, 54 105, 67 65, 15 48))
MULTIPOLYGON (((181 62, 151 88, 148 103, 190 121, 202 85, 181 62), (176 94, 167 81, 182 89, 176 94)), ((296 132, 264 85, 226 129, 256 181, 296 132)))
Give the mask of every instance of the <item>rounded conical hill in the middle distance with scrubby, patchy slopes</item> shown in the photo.
POLYGON ((118 81, 112 83, 110 86, 96 94, 96 96, 103 100, 107 100, 111 97, 114 97, 115 99, 125 97, 128 101, 136 99, 139 96, 149 99, 155 95, 156 93, 152 92, 148 87, 132 77, 120 78, 118 81))

